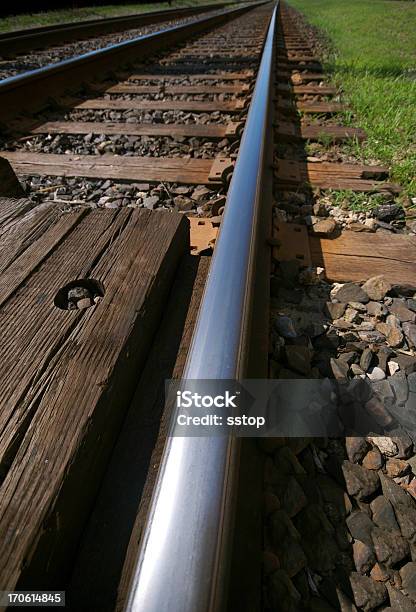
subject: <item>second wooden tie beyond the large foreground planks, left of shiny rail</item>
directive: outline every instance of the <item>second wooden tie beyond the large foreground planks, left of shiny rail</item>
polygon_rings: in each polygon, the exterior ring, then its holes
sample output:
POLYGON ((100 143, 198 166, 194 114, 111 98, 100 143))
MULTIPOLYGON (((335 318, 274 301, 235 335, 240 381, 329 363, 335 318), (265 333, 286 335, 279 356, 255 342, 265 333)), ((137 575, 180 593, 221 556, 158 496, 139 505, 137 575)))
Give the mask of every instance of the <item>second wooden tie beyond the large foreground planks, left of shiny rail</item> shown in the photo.
POLYGON ((236 136, 241 123, 228 125, 122 123, 99 121, 50 121, 32 129, 32 134, 126 134, 127 136, 189 136, 196 138, 225 138, 236 136))

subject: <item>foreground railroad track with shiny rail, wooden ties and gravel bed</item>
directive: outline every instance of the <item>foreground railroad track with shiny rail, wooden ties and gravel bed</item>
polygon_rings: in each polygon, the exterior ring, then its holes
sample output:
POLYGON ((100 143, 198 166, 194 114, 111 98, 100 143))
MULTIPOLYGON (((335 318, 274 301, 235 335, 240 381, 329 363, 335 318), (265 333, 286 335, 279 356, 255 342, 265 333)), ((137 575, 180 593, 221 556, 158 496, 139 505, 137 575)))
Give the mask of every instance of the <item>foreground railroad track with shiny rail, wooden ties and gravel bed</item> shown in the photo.
POLYGON ((307 24, 239 7, 0 99, 1 587, 414 609, 413 238, 388 169, 348 150, 366 135, 307 24), (343 437, 168 435, 166 379, 267 376, 376 399, 343 437))

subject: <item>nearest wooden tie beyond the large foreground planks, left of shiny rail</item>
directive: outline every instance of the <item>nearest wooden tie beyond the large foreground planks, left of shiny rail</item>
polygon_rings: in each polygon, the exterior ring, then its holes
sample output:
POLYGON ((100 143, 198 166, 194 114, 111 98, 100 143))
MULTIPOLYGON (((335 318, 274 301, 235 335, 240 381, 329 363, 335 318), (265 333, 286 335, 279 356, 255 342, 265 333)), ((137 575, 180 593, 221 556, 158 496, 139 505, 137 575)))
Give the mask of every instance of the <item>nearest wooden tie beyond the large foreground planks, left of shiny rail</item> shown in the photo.
MULTIPOLYGON (((18 174, 209 184, 214 159, 4 152, 18 174)), ((221 176, 216 182, 221 182, 221 176)))

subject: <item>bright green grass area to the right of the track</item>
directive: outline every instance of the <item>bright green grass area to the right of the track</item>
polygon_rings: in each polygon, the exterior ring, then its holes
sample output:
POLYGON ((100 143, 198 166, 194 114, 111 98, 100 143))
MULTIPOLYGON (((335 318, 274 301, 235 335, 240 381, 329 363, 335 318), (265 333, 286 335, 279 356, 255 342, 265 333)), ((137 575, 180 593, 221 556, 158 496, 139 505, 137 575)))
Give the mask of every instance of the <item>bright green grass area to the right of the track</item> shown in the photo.
POLYGON ((350 151, 391 167, 416 195, 416 2, 290 0, 330 41, 325 68, 354 111, 343 123, 366 130, 350 151))

